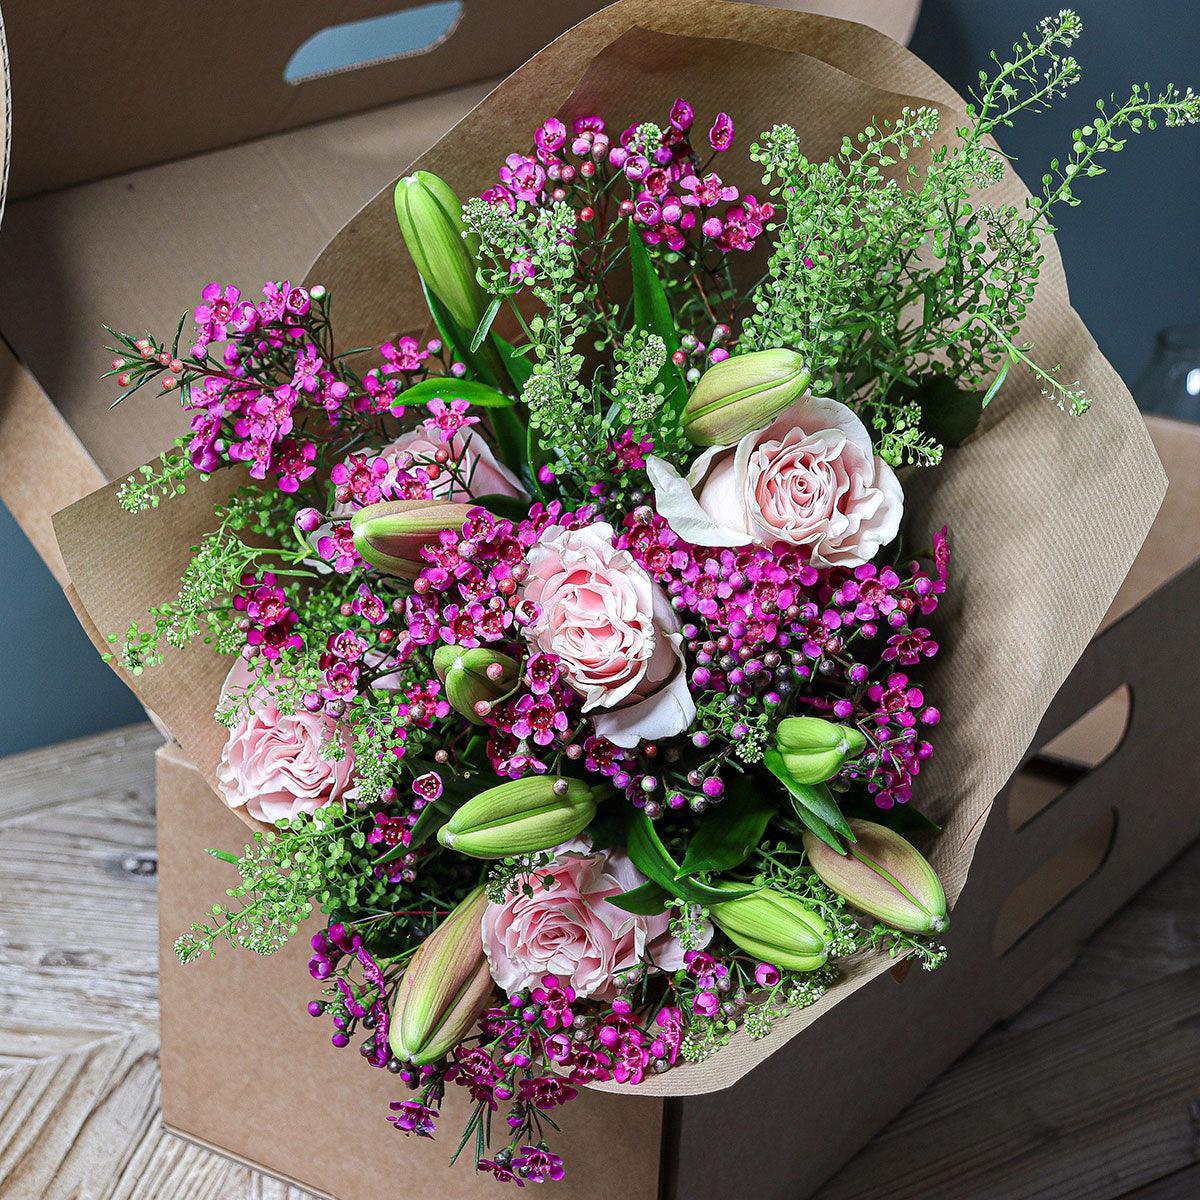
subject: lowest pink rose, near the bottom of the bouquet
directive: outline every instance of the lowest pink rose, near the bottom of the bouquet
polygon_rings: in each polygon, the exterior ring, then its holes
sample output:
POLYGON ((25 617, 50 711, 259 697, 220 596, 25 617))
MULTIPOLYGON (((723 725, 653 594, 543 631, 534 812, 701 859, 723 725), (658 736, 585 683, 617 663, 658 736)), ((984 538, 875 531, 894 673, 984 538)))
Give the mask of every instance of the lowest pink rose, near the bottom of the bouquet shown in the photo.
MULTIPOLYGON (((608 896, 646 882, 622 851, 590 853, 584 839, 554 852, 556 860, 540 872, 552 880, 532 896, 521 892, 484 912, 484 952, 492 978, 510 995, 536 985, 552 973, 578 996, 611 1000, 618 989, 612 977, 638 962, 662 971, 683 966, 683 947, 670 931, 670 917, 635 917, 608 896)), ((707 926, 704 944, 713 936, 707 926)))

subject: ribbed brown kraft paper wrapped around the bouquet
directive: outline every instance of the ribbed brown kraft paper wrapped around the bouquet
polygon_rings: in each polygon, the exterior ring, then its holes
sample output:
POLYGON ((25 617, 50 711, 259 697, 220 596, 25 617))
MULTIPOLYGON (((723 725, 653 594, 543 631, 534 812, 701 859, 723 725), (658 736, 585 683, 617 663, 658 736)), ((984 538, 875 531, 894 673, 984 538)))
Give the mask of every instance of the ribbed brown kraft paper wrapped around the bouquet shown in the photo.
MULTIPOLYGON (((816 158, 905 104, 934 103, 943 130, 953 130, 962 109, 920 60, 862 25, 709 0, 623 0, 512 74, 414 167, 468 196, 552 113, 599 112, 619 130, 666 112, 680 95, 701 119, 719 109, 733 115, 734 155, 780 121, 798 128, 816 158), (691 36, 697 30, 706 36, 691 36)), ((752 187, 742 164, 737 181, 752 187)), ((1027 194, 1009 169, 988 199, 1020 203, 1027 194)), ((950 592, 936 618, 942 652, 925 676, 944 716, 919 787, 922 808, 944 827, 930 857, 952 904, 994 798, 1099 625, 1165 492, 1132 397, 1070 307, 1057 247, 1048 239, 1044 250, 1025 334, 1043 362, 1061 362, 1066 378, 1085 383, 1092 410, 1061 413, 1014 370, 980 432, 943 466, 906 481, 918 539, 942 524, 953 539, 950 592)), ((424 307, 390 188, 330 242, 310 280, 336 295, 348 344, 379 342, 419 323, 424 307)), ((210 505, 227 487, 228 476, 217 478, 128 516, 110 486, 58 515, 62 557, 98 629, 120 630, 174 594, 188 546, 209 528, 210 505)), ((223 739, 211 713, 226 666, 193 647, 131 680, 210 784, 223 739)), ((953 931, 949 944, 953 953, 953 931)), ((821 1002, 779 1022, 768 1038, 738 1034, 709 1061, 648 1080, 640 1093, 731 1086, 889 965, 882 955, 844 964, 844 978, 821 1002)))

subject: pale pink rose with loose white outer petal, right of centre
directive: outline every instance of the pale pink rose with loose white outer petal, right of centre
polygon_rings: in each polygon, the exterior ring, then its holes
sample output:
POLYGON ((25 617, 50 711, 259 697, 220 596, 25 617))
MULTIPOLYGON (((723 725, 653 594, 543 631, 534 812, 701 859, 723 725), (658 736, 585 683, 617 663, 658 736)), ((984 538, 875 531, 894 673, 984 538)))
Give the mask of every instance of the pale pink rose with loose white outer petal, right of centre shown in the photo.
POLYGON ((700 546, 811 551, 815 566, 859 566, 895 538, 904 492, 863 422, 836 400, 805 396, 736 446, 714 446, 686 480, 647 463, 659 515, 700 546))

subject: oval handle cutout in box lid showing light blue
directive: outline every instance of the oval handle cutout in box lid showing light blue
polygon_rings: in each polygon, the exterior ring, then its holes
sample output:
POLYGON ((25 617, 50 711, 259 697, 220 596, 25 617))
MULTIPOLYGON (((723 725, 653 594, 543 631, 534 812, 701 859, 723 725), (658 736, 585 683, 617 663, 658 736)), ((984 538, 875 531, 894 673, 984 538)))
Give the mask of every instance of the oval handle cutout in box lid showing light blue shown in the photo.
POLYGON ((436 0, 413 8, 329 25, 313 34, 288 59, 283 82, 305 83, 427 54, 462 20, 462 0, 436 0))

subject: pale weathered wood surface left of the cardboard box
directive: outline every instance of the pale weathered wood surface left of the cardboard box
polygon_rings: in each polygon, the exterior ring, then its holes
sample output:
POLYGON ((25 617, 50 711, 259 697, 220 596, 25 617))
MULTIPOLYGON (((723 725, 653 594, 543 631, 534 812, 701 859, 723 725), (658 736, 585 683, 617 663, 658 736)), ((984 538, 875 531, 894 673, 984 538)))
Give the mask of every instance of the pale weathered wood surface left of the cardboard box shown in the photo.
POLYGON ((0 760, 0 1196, 312 1200, 162 1129, 149 725, 0 760))

